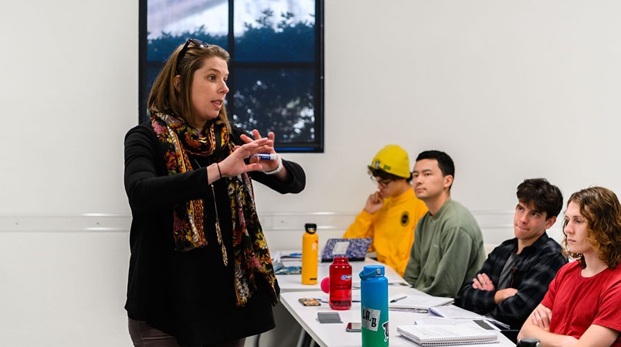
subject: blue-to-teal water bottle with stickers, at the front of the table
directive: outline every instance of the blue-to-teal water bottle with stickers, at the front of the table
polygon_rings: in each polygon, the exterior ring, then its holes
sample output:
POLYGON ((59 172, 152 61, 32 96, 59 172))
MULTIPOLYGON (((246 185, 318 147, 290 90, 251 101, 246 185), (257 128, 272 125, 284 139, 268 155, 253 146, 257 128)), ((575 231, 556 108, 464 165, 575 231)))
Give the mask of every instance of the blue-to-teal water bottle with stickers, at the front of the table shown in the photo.
POLYGON ((384 266, 364 266, 360 276, 362 347, 389 345, 388 278, 384 266))

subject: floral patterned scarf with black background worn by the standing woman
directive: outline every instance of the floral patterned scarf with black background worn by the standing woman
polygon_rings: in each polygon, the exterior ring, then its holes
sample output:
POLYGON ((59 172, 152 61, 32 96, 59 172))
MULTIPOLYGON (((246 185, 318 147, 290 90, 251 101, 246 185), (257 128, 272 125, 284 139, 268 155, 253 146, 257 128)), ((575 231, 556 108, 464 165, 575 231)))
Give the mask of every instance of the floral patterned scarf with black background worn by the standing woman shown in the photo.
MULTIPOLYGON (((160 150, 169 175, 192 171, 192 164, 189 162, 187 153, 212 156, 221 160, 232 153, 235 146, 230 142, 227 127, 216 126, 213 122, 209 128, 205 128, 205 133, 207 133, 205 137, 200 137, 194 128, 187 126, 183 119, 159 112, 151 116, 151 126, 160 141, 160 150), (216 132, 220 134, 220 141, 217 143, 216 132)), ((257 289, 257 278, 263 278, 269 283, 272 303, 275 304, 276 278, 267 242, 257 217, 252 182, 246 173, 223 179, 226 179, 228 183, 227 191, 232 217, 237 306, 246 305, 248 298, 257 289)), ((185 252, 207 246, 203 229, 203 214, 202 199, 177 203, 173 207, 173 237, 176 251, 185 252)), ((223 263, 228 266, 217 212, 216 234, 221 246, 223 263)))

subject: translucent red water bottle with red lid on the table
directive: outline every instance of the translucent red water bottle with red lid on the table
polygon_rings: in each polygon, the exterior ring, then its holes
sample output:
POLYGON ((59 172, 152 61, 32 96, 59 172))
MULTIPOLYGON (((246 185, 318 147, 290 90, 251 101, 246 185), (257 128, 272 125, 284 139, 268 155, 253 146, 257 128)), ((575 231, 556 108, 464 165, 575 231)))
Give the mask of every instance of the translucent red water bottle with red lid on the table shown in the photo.
POLYGON ((334 257, 330 265, 330 307, 332 310, 352 307, 352 266, 347 257, 334 257))

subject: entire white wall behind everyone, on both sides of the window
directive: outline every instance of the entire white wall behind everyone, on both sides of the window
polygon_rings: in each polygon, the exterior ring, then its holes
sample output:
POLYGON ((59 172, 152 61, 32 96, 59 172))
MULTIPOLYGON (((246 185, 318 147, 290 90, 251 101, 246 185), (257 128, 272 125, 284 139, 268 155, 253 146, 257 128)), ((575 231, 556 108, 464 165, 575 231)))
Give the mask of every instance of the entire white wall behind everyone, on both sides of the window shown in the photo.
MULTIPOLYGON (((130 346, 122 176, 137 122, 137 1, 3 5, 0 346, 130 346)), ((387 143, 412 160, 449 153, 453 197, 486 242, 511 236, 524 178, 546 177, 565 198, 589 185, 621 192, 620 10, 612 0, 326 0, 325 153, 286 155, 307 171, 297 196, 257 185, 269 242, 298 246, 302 221, 339 234, 387 143)))

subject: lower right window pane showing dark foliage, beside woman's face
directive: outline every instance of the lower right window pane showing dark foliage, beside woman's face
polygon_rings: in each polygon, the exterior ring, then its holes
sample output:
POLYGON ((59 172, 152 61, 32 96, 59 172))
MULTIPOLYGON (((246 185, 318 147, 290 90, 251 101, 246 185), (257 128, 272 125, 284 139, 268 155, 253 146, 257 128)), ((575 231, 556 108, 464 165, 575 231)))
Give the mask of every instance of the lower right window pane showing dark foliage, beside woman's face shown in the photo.
POLYGON ((229 113, 244 130, 275 134, 276 145, 315 141, 314 69, 242 69, 229 113))

